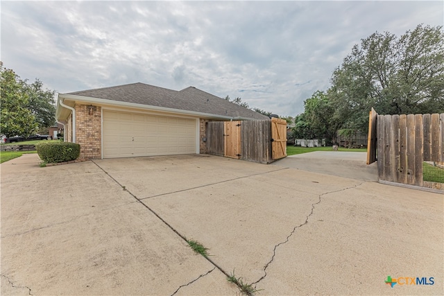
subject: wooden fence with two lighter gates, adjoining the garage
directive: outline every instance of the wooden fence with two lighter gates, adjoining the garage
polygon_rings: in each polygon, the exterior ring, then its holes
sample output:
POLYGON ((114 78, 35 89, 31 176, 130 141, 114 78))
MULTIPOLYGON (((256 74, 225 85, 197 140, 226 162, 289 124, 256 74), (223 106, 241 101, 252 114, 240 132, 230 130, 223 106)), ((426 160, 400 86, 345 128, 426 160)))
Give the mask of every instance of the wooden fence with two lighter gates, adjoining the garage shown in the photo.
POLYGON ((287 121, 210 121, 207 153, 269 164, 287 156, 287 121))

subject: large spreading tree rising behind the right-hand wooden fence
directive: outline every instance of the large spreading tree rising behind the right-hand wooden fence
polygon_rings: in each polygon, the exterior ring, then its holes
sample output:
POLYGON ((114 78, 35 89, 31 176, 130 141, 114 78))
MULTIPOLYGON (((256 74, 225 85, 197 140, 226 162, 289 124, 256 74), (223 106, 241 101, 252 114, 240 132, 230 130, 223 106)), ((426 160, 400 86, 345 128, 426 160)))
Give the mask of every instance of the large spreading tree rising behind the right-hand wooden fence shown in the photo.
POLYGON ((418 25, 401 37, 373 33, 334 70, 327 95, 344 128, 368 128, 368 110, 379 114, 444 112, 444 32, 418 25))

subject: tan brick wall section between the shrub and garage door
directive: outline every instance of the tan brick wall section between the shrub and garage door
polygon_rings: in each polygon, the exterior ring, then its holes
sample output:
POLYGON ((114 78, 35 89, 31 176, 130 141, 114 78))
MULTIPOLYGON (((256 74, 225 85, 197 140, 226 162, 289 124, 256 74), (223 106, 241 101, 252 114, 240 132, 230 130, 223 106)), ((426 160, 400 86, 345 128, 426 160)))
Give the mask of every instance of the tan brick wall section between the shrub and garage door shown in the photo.
POLYGON ((80 158, 102 157, 101 107, 76 105, 76 142, 80 144, 80 158), (92 114, 89 108, 92 107, 92 114))

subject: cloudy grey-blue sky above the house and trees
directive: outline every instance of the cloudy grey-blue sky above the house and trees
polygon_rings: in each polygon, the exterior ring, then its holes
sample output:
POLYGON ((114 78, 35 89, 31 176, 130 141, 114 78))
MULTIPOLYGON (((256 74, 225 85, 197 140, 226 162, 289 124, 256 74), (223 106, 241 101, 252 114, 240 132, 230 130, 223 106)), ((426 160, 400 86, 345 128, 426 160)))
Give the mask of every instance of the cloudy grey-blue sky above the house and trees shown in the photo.
POLYGON ((57 92, 144 82, 280 115, 375 31, 441 26, 443 1, 1 1, 1 61, 57 92))

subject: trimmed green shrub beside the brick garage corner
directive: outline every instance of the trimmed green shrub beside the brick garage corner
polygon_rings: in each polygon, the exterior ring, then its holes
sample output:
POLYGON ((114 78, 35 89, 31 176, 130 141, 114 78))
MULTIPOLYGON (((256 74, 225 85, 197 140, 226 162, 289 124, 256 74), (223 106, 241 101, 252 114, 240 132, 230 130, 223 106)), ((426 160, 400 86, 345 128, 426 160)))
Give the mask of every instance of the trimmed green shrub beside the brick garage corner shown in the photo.
POLYGON ((69 162, 80 155, 80 145, 70 142, 41 141, 35 144, 35 150, 46 163, 69 162))

